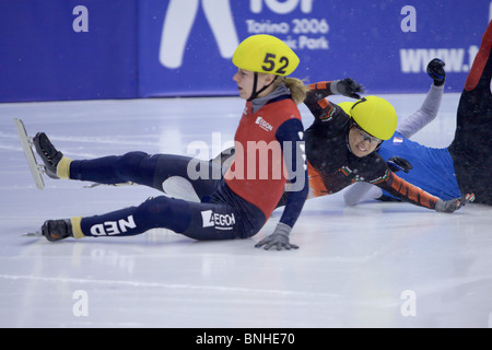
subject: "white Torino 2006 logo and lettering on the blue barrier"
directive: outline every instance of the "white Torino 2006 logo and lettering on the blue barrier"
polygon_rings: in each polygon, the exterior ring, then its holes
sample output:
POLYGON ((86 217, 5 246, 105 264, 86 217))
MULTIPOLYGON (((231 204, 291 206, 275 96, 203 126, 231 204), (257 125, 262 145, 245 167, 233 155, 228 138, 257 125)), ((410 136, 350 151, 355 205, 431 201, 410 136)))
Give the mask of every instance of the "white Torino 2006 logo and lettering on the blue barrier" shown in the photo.
MULTIPOLYGON (((261 13, 263 4, 270 11, 277 14, 288 14, 300 9, 303 13, 313 11, 314 0, 249 0, 249 10, 251 13, 261 13)), ((213 37, 223 58, 232 58, 239 39, 234 23, 234 16, 231 11, 230 0, 171 0, 164 18, 164 24, 161 35, 161 46, 159 60, 161 65, 169 69, 181 67, 183 58, 186 51, 186 44, 189 39, 191 28, 195 24, 198 10, 203 10, 204 16, 212 31, 213 37)), ((248 34, 269 33, 269 34, 307 34, 328 32, 328 24, 325 20, 318 21, 306 19, 293 19, 292 26, 285 22, 270 23, 269 21, 256 22, 246 20, 248 34)), ((328 48, 328 42, 325 37, 309 38, 301 35, 298 43, 296 39, 286 38, 286 44, 292 48, 328 48)))

